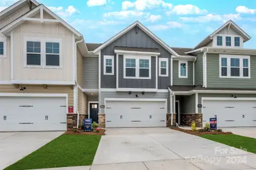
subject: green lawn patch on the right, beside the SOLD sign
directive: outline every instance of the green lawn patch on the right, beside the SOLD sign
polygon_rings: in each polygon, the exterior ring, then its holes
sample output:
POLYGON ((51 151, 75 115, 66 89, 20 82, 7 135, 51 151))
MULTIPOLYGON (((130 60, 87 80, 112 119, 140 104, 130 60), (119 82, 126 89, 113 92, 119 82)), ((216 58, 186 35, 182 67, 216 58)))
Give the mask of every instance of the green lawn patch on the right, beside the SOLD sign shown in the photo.
POLYGON ((233 146, 239 149, 242 147, 243 149, 246 149, 248 152, 253 152, 254 154, 256 154, 255 138, 242 137, 240 135, 235 134, 204 134, 200 135, 200 137, 210 139, 215 142, 223 143, 225 145, 233 146))

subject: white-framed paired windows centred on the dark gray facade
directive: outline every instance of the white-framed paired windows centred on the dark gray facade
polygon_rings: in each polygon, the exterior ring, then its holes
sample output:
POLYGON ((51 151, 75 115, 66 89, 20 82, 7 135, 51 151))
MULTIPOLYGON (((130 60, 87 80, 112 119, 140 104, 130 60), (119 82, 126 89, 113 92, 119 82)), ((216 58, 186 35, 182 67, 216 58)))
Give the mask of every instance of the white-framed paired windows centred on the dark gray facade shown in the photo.
POLYGON ((151 79, 151 57, 124 56, 124 78, 151 79))

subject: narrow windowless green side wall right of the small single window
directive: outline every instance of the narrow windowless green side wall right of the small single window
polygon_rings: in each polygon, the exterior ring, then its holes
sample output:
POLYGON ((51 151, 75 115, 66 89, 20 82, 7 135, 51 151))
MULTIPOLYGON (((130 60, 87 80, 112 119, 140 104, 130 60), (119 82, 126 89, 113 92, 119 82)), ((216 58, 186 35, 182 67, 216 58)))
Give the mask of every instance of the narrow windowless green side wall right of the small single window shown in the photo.
POLYGON ((195 86, 203 86, 203 54, 199 53, 195 62, 195 86))

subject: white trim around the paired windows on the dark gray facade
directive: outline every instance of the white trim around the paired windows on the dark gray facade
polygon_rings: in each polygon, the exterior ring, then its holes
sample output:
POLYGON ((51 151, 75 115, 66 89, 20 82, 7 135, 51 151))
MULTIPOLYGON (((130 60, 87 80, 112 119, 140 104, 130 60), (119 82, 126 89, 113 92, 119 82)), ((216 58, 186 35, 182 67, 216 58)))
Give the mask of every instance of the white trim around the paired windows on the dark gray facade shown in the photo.
POLYGON ((124 56, 124 79, 151 79, 151 56, 131 56, 131 55, 125 55, 124 56), (125 65, 125 59, 131 58, 136 59, 136 73, 135 76, 125 76, 126 72, 126 65, 125 65), (149 59, 149 77, 140 77, 140 59, 149 59))

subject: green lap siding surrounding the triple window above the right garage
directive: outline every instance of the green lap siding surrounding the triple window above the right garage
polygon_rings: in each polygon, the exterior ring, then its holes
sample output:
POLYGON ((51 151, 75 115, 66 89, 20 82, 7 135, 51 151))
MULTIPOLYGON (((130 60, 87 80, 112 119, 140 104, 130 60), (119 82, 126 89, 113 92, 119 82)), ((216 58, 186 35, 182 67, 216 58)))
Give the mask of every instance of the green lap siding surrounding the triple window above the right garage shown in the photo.
POLYGON ((256 56, 250 57, 250 79, 220 78, 219 54, 207 53, 207 87, 214 88, 256 88, 256 56))

